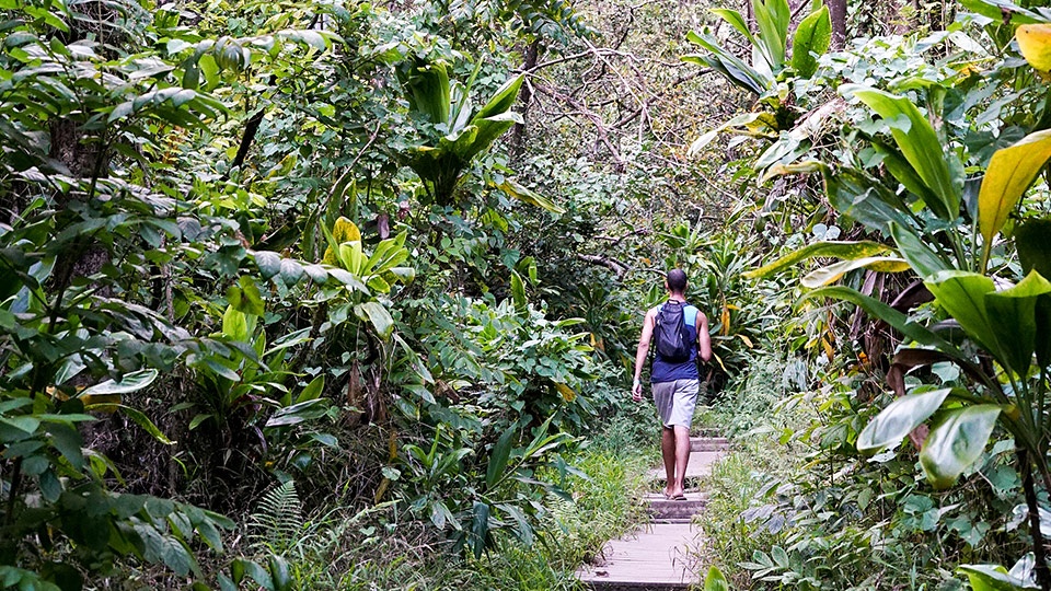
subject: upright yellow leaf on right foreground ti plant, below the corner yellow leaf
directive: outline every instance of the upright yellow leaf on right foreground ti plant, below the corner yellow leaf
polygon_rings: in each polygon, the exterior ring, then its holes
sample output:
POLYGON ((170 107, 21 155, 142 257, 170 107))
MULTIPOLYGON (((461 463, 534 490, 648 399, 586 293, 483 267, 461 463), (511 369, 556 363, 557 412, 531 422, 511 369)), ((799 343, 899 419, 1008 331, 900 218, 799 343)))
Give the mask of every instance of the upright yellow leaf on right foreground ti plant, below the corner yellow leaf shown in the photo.
POLYGON ((1007 221, 1007 215, 1049 159, 1051 129, 1030 134, 993 154, 978 194, 978 227, 985 244, 992 244, 1007 221))

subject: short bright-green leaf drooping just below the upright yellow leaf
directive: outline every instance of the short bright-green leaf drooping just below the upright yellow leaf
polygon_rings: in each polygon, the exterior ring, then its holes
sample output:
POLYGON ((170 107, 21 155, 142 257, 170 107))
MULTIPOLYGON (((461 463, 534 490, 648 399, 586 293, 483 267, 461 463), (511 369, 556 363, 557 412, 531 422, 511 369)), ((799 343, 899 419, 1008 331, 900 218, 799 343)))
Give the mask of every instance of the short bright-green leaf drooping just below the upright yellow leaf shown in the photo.
POLYGON ((985 294, 996 291, 992 279, 954 269, 935 274, 924 285, 969 337, 998 359, 1003 357, 998 355, 992 318, 985 310, 985 294))

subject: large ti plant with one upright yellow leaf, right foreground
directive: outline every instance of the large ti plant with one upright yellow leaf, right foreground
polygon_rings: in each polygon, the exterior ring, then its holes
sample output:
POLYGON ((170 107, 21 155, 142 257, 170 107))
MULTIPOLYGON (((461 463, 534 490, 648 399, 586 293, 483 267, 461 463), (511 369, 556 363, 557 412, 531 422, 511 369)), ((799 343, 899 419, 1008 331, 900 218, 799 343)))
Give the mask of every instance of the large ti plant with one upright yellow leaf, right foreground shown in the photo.
MULTIPOLYGON (((1042 51, 1051 49, 1051 43, 1043 43, 1042 51)), ((1040 589, 1049 590, 1051 571, 1040 518, 1044 510, 1038 498, 1040 488, 1051 490, 1051 220, 1007 222, 1051 159, 1051 130, 1031 132, 996 151, 977 199, 969 202, 959 151, 943 146, 928 117, 910 99, 861 85, 845 85, 841 93, 880 117, 883 130, 873 138, 873 146, 902 188, 894 190, 862 170, 817 162, 775 166, 773 174, 821 172, 830 204, 888 236, 891 245, 811 244, 750 275, 762 276, 805 258, 840 258, 802 279, 817 288, 804 300, 828 297, 854 303, 904 336, 888 373, 901 397, 861 432, 859 451, 893 448, 911 436, 921 444, 920 463, 927 480, 935 488, 947 488, 980 459, 997 425, 1014 438, 1035 579, 1040 589), (880 139, 887 135, 890 141, 880 139), (961 205, 967 206, 962 211, 961 205), (1018 266, 1012 262, 1013 252, 1018 266), (908 291, 920 297, 894 308, 831 286, 859 268, 912 273, 919 280, 908 291), (933 308, 915 308, 925 301, 933 301, 933 308), (906 372, 944 361, 958 366, 967 380, 956 387, 919 385, 906 391, 906 372)), ((1024 570, 962 567, 974 589, 1035 588, 1024 570)))

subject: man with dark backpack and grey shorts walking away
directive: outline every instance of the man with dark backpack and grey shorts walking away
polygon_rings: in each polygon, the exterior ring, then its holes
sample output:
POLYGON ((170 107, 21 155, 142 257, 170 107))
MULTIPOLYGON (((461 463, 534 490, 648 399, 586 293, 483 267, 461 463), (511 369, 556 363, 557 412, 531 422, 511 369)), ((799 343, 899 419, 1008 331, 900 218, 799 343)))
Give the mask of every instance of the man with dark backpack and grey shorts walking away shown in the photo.
POLYGON ((712 339, 708 336, 708 318, 703 312, 686 303, 686 274, 682 269, 668 271, 665 279, 668 301, 646 313, 643 336, 635 352, 635 382, 632 398, 643 399, 643 364, 649 354, 650 341, 656 355, 650 371, 654 402, 663 425, 660 433, 660 454, 665 460, 668 486, 665 496, 669 499, 685 499, 683 482, 686 462, 690 461, 690 424, 697 404, 701 374, 697 371, 697 355, 705 361, 712 359, 712 339))

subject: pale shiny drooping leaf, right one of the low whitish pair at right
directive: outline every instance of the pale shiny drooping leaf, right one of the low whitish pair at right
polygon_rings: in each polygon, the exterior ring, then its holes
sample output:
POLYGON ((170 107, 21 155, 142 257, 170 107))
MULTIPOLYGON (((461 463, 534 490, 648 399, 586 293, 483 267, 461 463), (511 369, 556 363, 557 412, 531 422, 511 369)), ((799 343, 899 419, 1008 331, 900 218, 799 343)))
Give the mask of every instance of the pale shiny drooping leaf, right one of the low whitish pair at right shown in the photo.
POLYGON ((995 404, 957 408, 931 430, 920 451, 920 464, 932 486, 952 486, 982 456, 1000 413, 1001 407, 995 404))

